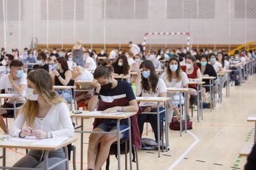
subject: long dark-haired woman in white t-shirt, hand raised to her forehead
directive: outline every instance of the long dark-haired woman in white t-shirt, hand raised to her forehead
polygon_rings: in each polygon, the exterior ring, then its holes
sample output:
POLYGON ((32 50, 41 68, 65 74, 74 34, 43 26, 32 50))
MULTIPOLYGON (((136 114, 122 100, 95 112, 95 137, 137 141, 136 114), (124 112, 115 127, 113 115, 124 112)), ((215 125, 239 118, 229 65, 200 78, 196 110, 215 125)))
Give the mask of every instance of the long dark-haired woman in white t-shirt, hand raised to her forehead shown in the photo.
MULTIPOLYGON (((142 97, 166 97, 166 85, 163 79, 159 78, 153 62, 145 60, 140 64, 140 70, 136 79, 136 95, 142 97)), ((140 102, 140 107, 144 112, 156 112, 157 104, 152 102, 140 102)), ((164 103, 159 104, 159 110, 164 110, 164 103)), ((164 118, 164 111, 160 113, 160 121, 164 118)), ((138 115, 138 125, 140 129, 140 137, 142 137, 143 126, 146 121, 149 121, 155 134, 155 139, 158 139, 157 115, 141 114, 138 115)), ((161 123, 160 123, 161 129, 161 123)), ((161 134, 160 134, 161 139, 161 134)))

